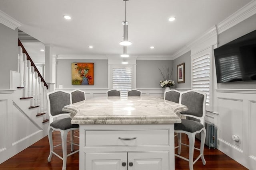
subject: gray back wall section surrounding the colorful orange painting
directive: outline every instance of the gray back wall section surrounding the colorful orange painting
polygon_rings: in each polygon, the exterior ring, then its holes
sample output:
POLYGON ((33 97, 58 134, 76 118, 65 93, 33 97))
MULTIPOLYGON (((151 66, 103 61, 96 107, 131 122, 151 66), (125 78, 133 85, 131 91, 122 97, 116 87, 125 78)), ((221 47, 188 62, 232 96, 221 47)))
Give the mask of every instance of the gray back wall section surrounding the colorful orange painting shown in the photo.
POLYGON ((108 88, 108 60, 58 60, 56 88, 108 88), (72 85, 71 63, 94 63, 94 85, 72 85))

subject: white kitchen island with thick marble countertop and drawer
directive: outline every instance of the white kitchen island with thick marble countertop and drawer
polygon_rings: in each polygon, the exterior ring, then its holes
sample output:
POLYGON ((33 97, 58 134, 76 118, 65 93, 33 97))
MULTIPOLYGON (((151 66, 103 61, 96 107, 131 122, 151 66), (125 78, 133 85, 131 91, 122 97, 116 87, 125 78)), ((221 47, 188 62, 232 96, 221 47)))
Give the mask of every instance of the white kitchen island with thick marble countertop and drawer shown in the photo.
POLYGON ((186 106, 157 97, 101 97, 62 110, 80 125, 80 170, 174 170, 174 123, 186 106))

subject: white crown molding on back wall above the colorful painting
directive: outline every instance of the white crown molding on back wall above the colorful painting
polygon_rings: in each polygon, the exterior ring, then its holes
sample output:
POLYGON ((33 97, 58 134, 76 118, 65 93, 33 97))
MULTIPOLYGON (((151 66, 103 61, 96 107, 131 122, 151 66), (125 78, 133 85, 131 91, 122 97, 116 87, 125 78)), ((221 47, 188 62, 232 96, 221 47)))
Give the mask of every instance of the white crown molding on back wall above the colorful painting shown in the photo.
MULTIPOLYGON (((54 55, 56 56, 56 55, 54 55)), ((106 60, 108 57, 106 55, 61 55, 59 54, 57 59, 60 60, 69 60, 69 59, 76 59, 76 60, 106 60)))

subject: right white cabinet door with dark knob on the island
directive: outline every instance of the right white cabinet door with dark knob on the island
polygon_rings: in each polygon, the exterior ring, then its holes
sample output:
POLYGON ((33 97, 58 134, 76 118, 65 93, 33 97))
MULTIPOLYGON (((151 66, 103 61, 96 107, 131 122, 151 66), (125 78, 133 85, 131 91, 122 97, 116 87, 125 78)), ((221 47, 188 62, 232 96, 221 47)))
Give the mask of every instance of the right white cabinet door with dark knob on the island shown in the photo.
POLYGON ((169 152, 130 152, 128 170, 169 170, 169 152))

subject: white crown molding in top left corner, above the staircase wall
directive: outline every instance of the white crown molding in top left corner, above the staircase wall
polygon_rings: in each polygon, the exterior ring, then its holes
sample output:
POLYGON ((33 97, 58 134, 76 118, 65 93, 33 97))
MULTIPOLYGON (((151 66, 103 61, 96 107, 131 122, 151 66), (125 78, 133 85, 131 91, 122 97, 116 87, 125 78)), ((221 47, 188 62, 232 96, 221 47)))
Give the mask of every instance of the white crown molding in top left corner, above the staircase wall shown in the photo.
POLYGON ((17 27, 21 26, 21 23, 11 16, 8 16, 4 12, 0 10, 0 23, 4 24, 5 26, 15 30, 17 27))

